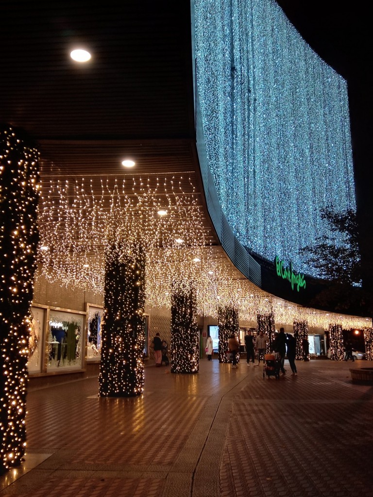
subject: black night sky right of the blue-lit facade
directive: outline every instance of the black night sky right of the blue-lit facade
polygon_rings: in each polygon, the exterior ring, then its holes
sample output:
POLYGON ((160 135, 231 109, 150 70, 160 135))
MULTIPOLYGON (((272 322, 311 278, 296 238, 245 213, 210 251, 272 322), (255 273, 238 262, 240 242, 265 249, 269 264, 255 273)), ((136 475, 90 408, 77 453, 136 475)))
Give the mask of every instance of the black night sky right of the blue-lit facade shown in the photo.
POLYGON ((372 20, 369 3, 277 0, 290 22, 348 84, 362 262, 372 285, 373 264, 373 85, 372 20))

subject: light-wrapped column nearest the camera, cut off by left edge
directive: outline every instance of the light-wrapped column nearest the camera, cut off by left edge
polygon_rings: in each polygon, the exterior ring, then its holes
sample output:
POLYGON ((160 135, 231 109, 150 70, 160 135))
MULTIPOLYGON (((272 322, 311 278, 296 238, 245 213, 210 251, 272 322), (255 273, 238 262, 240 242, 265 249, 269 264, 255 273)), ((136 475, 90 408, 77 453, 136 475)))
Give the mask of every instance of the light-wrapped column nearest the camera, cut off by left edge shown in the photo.
POLYGON ((26 446, 29 308, 38 244, 39 154, 20 130, 0 127, 0 472, 26 446))

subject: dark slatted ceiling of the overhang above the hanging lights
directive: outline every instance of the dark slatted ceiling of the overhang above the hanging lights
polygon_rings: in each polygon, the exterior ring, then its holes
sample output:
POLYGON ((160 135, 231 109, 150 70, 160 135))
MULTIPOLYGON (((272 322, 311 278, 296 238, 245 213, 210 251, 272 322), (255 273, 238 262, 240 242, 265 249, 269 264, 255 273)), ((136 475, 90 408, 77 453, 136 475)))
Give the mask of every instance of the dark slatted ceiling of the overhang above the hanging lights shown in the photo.
POLYGON ((174 181, 225 258, 195 149, 189 2, 3 0, 0 19, 0 121, 36 140, 42 194, 82 177, 97 195, 101 179, 174 181), (70 59, 78 45, 86 65, 70 59))

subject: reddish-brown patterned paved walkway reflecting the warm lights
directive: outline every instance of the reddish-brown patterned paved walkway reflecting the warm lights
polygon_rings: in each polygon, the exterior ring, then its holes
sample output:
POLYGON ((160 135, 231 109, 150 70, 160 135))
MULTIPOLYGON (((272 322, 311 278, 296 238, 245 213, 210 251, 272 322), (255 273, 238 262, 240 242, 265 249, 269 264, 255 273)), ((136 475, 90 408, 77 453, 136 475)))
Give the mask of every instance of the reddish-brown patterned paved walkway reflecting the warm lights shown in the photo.
POLYGON ((129 399, 98 398, 97 377, 31 381, 25 463, 0 497, 373 497, 373 385, 349 372, 371 362, 296 365, 149 365, 129 399))

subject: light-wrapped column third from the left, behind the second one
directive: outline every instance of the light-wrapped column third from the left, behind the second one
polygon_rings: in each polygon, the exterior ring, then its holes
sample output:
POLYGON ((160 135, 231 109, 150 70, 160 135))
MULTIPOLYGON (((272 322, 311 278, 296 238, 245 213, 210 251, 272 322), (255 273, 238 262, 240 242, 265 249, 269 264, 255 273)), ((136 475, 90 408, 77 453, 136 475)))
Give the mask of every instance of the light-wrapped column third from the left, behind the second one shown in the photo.
POLYGON ((171 298, 171 373, 198 373, 199 347, 195 291, 175 286, 171 298))

